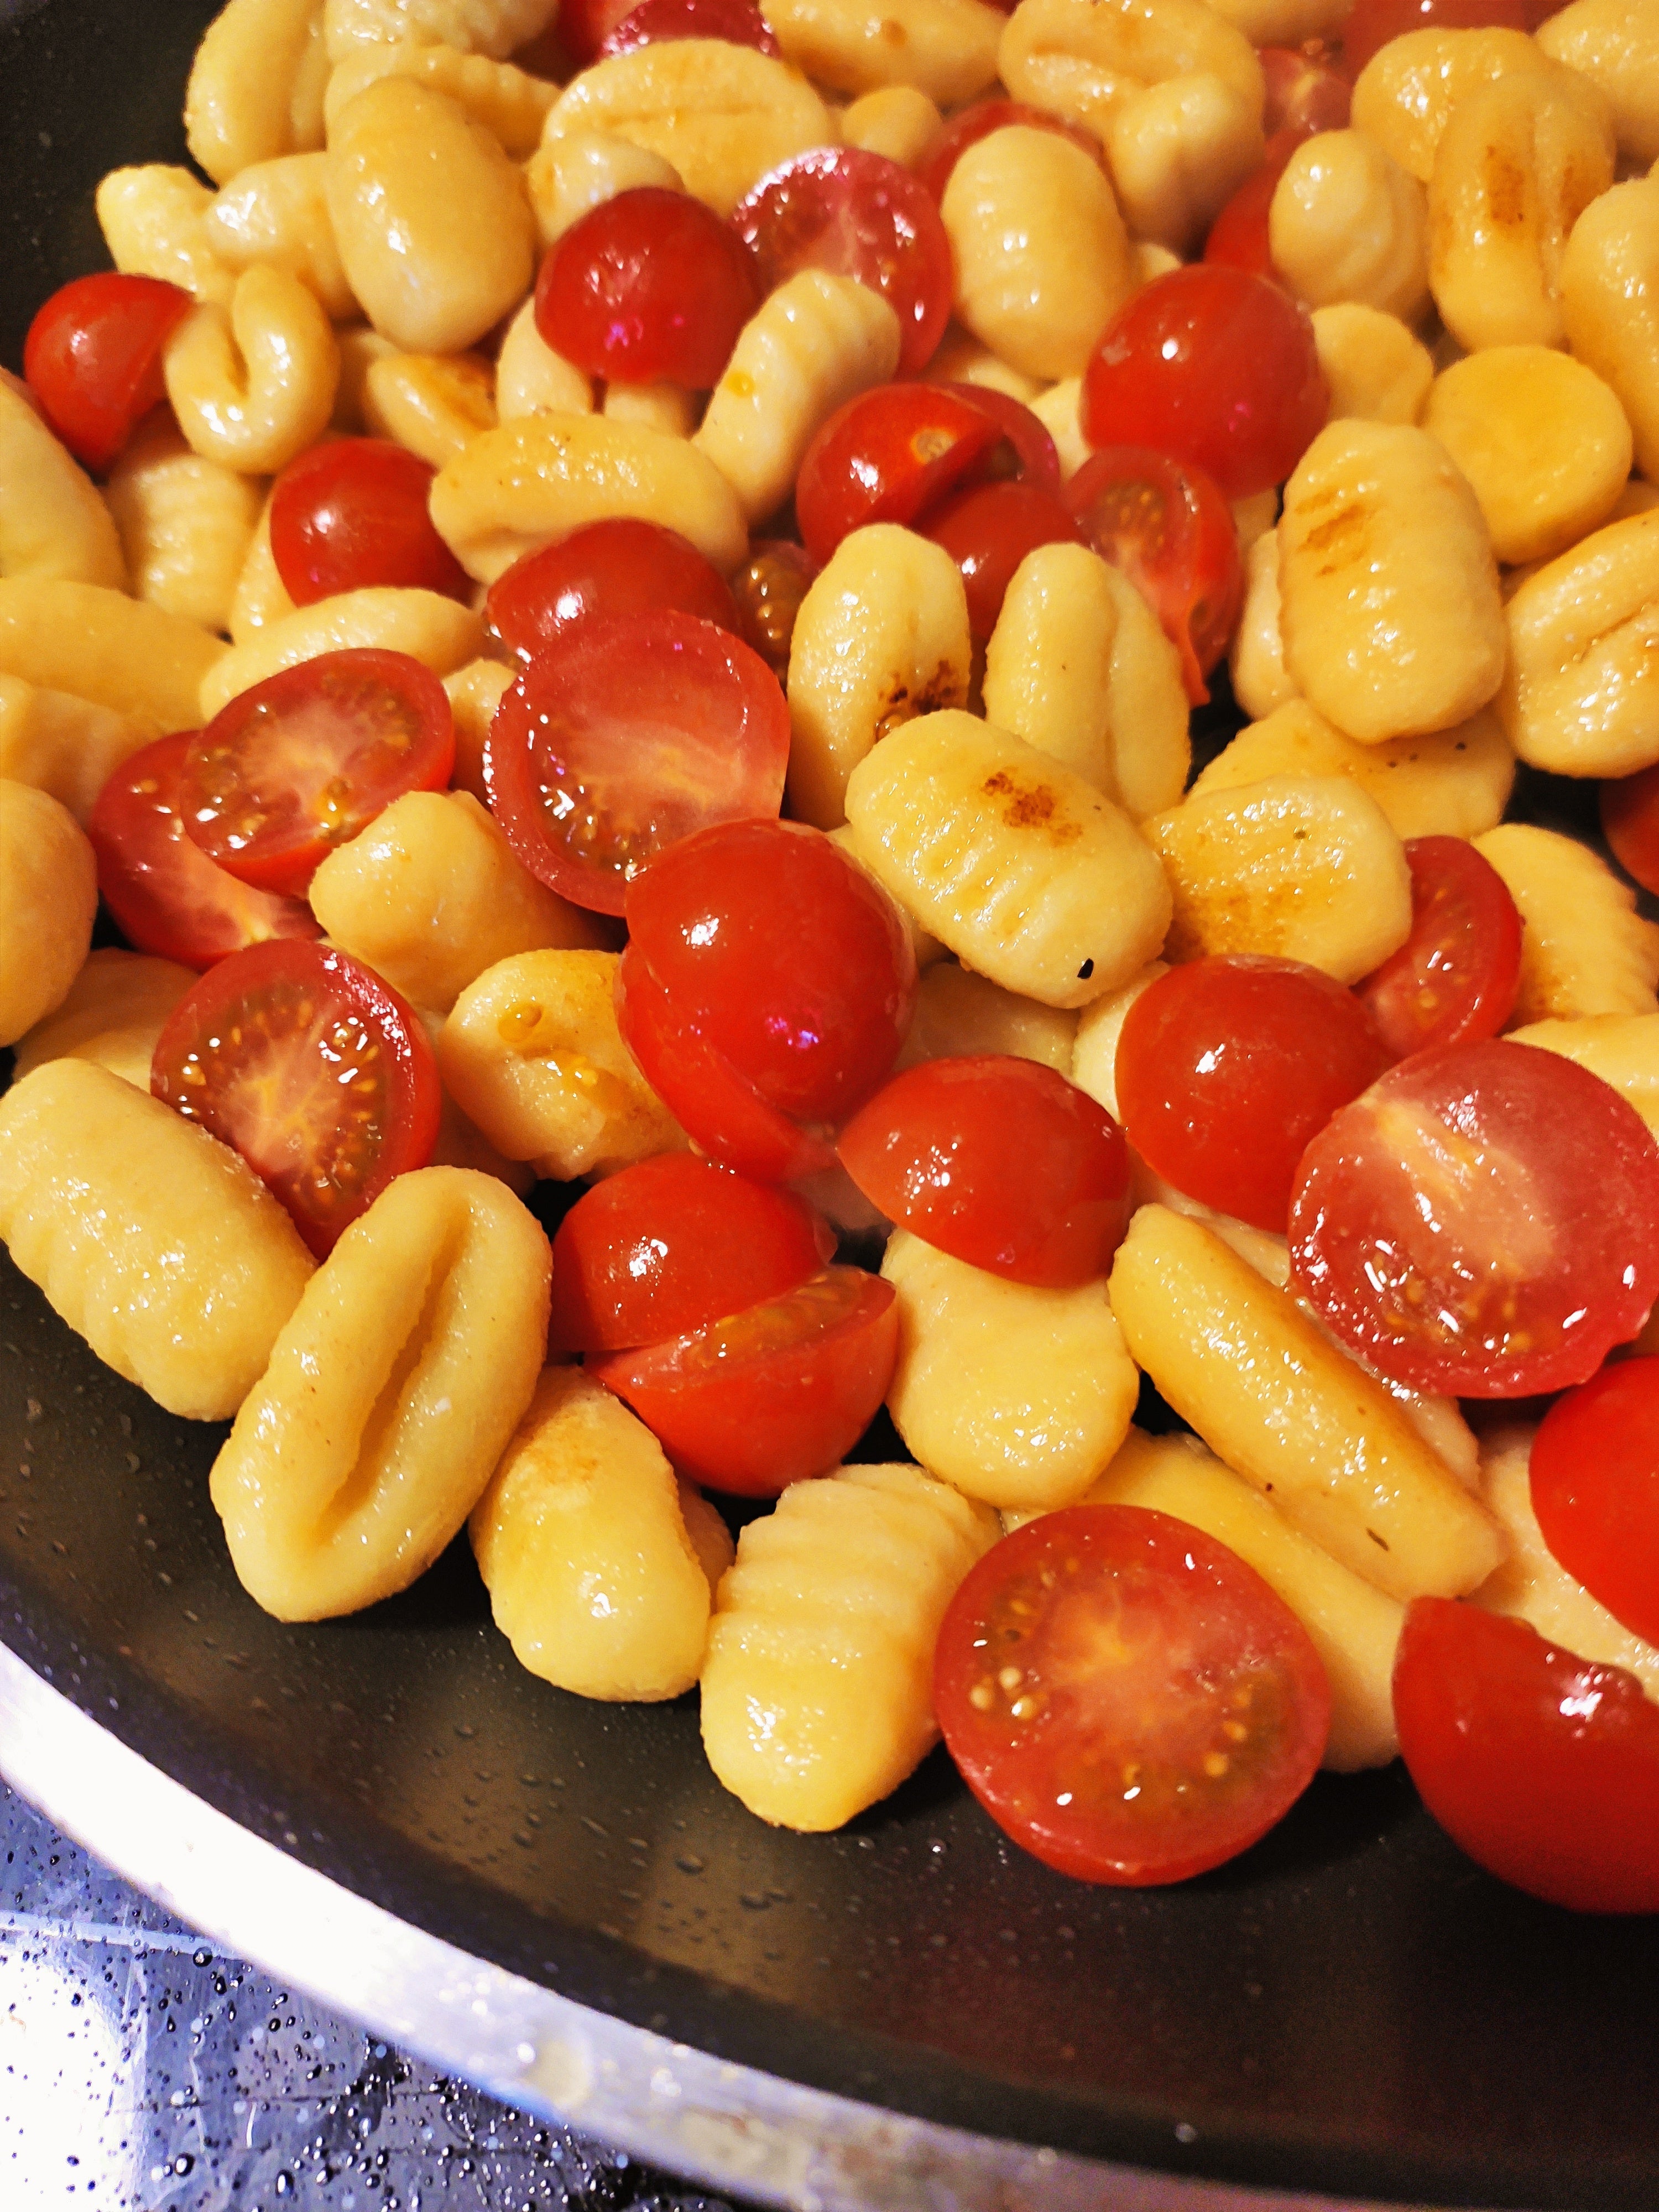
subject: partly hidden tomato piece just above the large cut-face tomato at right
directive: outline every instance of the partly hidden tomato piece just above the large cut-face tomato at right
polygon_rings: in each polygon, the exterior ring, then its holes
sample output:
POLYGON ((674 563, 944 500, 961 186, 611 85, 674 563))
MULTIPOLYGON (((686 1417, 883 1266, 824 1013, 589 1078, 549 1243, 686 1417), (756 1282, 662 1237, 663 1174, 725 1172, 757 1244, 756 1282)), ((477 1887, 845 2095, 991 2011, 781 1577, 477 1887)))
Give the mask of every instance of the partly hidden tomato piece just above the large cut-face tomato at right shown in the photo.
POLYGON ((1396 1060, 1495 1037, 1520 982, 1520 914, 1491 860, 1460 836, 1413 836, 1405 858, 1411 936, 1354 987, 1396 1060))

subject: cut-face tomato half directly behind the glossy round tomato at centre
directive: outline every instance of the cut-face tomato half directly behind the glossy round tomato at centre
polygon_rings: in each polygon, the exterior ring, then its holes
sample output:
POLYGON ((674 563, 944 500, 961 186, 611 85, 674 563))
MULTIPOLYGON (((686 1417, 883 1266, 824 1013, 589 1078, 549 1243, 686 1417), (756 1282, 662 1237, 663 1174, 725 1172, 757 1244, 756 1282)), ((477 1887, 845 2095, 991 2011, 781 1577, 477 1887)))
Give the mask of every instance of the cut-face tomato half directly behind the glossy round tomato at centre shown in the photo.
POLYGON ((790 759, 779 679, 741 637, 659 608, 555 637, 489 728, 489 803, 524 867, 597 914, 668 845, 776 814, 790 759))

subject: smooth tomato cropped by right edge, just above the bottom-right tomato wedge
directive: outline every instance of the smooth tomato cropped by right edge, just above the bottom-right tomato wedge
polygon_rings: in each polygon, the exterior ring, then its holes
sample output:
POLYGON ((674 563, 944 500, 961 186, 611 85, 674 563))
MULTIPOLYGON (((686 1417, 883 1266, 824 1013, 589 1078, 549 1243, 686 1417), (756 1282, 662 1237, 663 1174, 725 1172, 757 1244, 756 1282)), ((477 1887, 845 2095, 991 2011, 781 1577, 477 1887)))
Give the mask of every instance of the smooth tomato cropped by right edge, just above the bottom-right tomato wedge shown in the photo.
POLYGON ((1528 1473, 1553 1557, 1659 1644, 1659 1358, 1617 1360, 1557 1398, 1528 1473))

